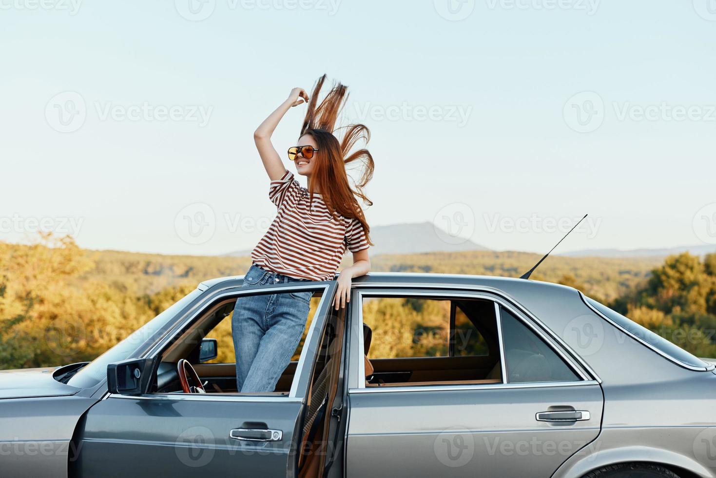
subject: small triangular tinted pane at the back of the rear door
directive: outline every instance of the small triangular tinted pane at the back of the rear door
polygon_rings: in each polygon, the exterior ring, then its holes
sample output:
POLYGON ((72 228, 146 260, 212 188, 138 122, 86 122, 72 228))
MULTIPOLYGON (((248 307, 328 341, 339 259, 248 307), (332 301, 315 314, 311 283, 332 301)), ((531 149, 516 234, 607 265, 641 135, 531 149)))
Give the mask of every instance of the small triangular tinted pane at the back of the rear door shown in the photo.
POLYGON ((501 310, 508 383, 579 380, 571 368, 536 333, 508 310, 501 310))

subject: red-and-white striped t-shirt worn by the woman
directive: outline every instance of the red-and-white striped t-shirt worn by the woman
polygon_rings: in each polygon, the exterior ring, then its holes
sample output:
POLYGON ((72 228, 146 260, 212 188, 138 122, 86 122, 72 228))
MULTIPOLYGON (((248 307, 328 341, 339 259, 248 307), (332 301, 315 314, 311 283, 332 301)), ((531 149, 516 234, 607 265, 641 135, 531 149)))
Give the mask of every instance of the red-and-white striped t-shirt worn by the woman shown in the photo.
POLYGON ((296 279, 332 280, 346 249, 368 249, 357 219, 331 216, 321 195, 313 196, 311 204, 308 189, 289 171, 271 181, 269 199, 279 210, 251 252, 254 264, 296 279))

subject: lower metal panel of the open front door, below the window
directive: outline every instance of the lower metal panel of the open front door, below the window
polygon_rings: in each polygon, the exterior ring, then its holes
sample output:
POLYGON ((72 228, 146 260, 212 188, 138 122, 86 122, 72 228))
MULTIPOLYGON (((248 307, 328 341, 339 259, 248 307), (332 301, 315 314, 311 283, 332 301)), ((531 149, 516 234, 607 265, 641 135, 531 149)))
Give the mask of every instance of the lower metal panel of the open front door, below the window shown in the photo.
POLYGON ((110 397, 77 437, 76 477, 286 477, 301 402, 110 397), (249 425, 251 424, 251 425, 249 425), (279 441, 231 438, 240 428, 277 429, 279 441), (117 460, 118 457, 125 459, 117 460), (130 461, 126 458, 131 457, 130 461))

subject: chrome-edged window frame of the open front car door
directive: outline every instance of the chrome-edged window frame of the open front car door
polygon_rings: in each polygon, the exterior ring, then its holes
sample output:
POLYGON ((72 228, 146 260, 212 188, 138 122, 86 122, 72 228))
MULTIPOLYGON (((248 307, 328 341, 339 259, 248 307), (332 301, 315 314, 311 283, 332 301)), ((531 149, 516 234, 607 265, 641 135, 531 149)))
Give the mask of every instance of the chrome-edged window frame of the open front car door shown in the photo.
POLYGON ((155 343, 142 353, 138 358, 153 358, 162 353, 163 349, 174 340, 183 330, 191 325, 195 320, 203 315, 203 313, 212 307, 218 301, 226 298, 241 297, 243 295, 256 295, 258 293, 289 293, 295 291, 313 290, 321 292, 321 299, 316 306, 316 316, 309 326, 306 333, 306 340, 299 355, 299 362, 296 365, 296 373, 294 381, 291 383, 291 389, 288 396, 274 395, 240 395, 236 393, 147 393, 140 396, 128 396, 119 393, 107 393, 102 399, 107 398, 131 398, 132 400, 189 400, 189 401, 240 401, 240 402, 302 402, 304 401, 307 384, 310 380, 312 363, 309 360, 311 350, 315 353, 320 340, 321 330, 329 312, 330 300, 329 296, 334 295, 336 283, 332 282, 313 282, 309 284, 301 284, 297 282, 289 282, 288 284, 264 285, 256 287, 226 287, 216 290, 205 297, 199 297, 190 310, 186 312, 184 317, 175 320, 174 325, 169 328, 155 343), (308 363, 307 363, 308 362, 308 363))

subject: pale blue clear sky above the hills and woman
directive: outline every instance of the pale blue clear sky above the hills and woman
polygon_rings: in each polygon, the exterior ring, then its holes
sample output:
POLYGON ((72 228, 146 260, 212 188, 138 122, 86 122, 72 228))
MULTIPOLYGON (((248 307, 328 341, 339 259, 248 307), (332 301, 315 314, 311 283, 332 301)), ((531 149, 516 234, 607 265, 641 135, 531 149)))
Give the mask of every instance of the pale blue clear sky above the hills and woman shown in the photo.
POLYGON ((208 0, 201 21, 180 14, 195 0, 45 1, 0 0, 0 240, 37 220, 92 249, 252 247, 274 206, 251 133, 323 72, 372 130, 374 225, 462 217, 479 244, 535 252, 563 234, 544 219, 586 212, 560 252, 710 237, 712 0, 208 0), (67 92, 85 116, 61 133, 67 92), (143 104, 160 110, 125 118, 143 104))

